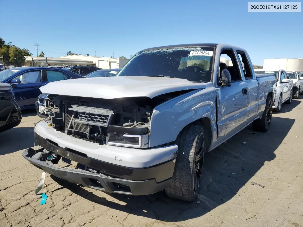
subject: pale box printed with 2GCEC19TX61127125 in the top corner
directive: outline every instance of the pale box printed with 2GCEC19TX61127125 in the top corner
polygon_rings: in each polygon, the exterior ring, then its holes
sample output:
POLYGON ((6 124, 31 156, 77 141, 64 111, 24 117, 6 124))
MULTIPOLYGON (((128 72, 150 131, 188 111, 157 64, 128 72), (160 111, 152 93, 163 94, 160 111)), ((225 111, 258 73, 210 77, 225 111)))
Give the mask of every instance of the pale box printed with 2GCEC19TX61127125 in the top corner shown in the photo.
POLYGON ((301 12, 301 2, 248 2, 247 12, 301 12))

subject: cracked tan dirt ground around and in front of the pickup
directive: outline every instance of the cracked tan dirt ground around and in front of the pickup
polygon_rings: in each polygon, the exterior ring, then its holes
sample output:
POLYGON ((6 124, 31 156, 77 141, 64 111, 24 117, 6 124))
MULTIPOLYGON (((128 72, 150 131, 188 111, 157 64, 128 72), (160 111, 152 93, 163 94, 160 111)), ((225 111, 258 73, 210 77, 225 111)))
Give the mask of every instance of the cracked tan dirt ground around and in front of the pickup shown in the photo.
POLYGON ((267 133, 249 126, 207 153, 196 202, 106 194, 46 174, 45 205, 35 195, 42 170, 21 155, 39 118, 23 111, 22 123, 0 134, 0 226, 303 227, 302 108, 283 104, 267 133))

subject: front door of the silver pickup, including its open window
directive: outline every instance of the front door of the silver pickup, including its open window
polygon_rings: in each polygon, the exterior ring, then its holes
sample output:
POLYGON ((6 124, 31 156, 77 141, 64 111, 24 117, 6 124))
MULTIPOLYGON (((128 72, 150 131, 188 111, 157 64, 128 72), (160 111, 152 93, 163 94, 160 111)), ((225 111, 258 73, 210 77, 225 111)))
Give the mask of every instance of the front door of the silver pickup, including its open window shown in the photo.
MULTIPOLYGON (((222 86, 217 90, 218 105, 218 140, 225 140, 241 130, 247 124, 248 87, 241 73, 233 49, 223 49, 220 59, 230 59, 228 66, 220 62, 219 74, 227 69, 231 74, 230 87, 222 86)), ((221 77, 221 75, 219 75, 221 77)))

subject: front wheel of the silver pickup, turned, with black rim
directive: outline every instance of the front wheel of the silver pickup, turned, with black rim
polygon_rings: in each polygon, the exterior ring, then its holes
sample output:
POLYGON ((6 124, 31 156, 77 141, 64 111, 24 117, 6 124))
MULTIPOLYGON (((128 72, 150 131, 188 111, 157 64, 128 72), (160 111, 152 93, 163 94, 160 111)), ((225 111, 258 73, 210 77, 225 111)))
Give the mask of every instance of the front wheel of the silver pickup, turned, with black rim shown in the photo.
POLYGON ((197 198, 204 163, 204 135, 204 129, 199 125, 190 125, 181 131, 176 140, 178 153, 174 174, 165 189, 168 196, 185 201, 197 198))

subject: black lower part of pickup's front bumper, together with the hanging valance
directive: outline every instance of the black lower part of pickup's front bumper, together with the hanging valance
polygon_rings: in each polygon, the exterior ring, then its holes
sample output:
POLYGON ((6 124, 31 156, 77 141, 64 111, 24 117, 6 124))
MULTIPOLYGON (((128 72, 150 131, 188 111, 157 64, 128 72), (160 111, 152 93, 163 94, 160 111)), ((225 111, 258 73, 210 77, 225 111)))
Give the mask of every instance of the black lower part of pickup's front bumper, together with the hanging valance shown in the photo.
MULTIPOLYGON (((144 168, 134 168, 108 163, 80 151, 61 147, 37 133, 35 140, 41 148, 38 150, 29 148, 22 154, 34 166, 58 178, 105 192, 128 195, 153 194, 168 187, 175 168, 175 159, 144 168), (61 168, 46 161, 46 157, 51 153, 57 154, 58 160, 64 157, 75 161, 77 169, 61 168), (93 169, 94 172, 88 171, 89 169, 93 169)), ((138 159, 137 156, 132 158, 138 159)))

